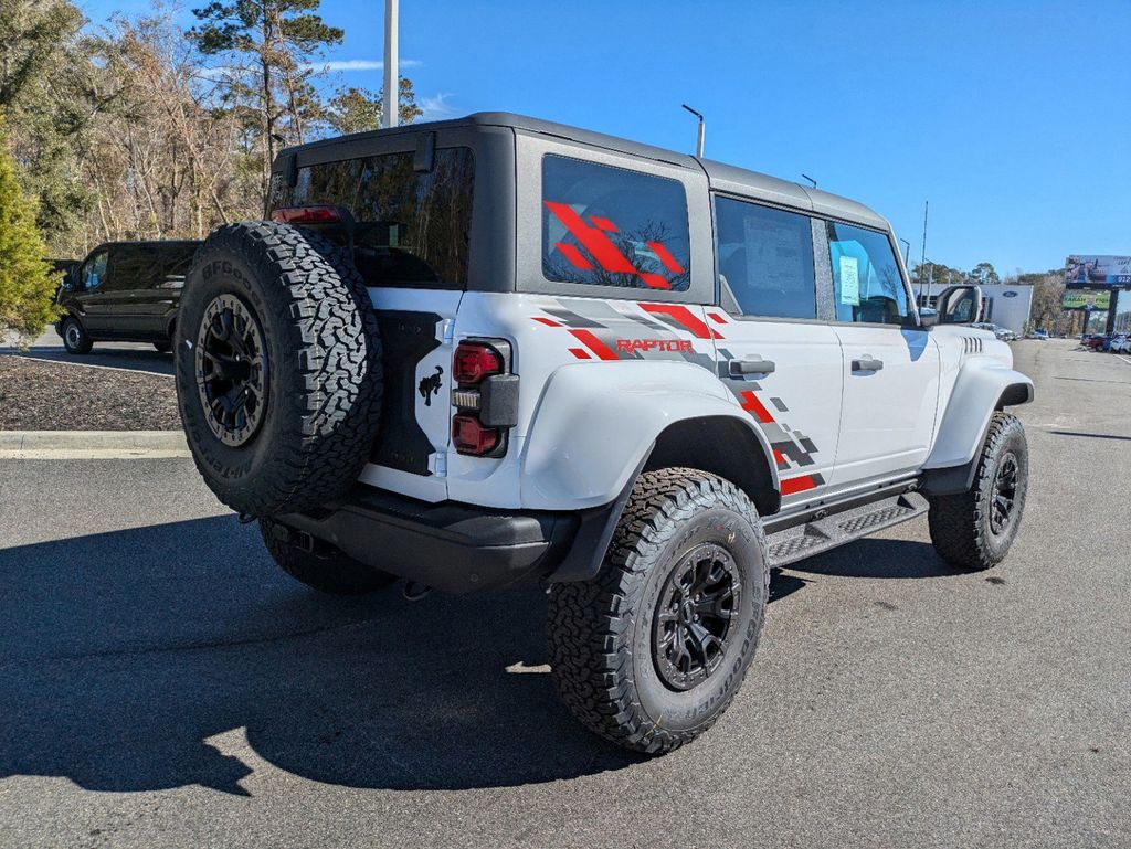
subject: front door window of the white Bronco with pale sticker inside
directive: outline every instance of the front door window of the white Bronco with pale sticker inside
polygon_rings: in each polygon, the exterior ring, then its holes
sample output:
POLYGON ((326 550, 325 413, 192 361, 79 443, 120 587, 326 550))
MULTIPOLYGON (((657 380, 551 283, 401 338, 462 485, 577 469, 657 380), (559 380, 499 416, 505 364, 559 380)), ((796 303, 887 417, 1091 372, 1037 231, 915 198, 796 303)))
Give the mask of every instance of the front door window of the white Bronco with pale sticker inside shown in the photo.
POLYGON ((907 288, 884 233, 827 224, 837 321, 899 324, 907 315, 907 288))

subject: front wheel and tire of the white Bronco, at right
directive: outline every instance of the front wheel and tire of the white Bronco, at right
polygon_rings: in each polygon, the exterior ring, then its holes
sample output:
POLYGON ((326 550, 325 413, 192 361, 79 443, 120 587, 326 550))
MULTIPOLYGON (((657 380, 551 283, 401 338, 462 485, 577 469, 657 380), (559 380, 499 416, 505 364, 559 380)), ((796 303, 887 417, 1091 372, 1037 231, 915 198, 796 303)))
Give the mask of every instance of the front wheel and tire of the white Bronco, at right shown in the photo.
POLYGON ((1016 416, 994 413, 974 485, 930 499, 927 525, 939 554, 959 569, 992 569, 1009 553, 1029 487, 1029 447, 1016 416))

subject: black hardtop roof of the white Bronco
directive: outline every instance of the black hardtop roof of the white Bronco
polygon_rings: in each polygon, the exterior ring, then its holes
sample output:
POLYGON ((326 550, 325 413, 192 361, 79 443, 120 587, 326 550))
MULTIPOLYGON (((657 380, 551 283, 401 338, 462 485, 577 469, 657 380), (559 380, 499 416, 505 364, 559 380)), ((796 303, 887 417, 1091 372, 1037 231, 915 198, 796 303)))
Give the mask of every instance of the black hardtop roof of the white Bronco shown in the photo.
POLYGON ((872 227, 888 229, 888 222, 878 213, 858 203, 855 200, 843 198, 819 189, 810 189, 787 180, 780 180, 769 174, 761 174, 757 171, 748 171, 734 165, 715 162, 713 159, 698 159, 690 154, 681 154, 667 150, 662 147, 644 145, 639 141, 622 139, 616 136, 606 136, 602 132, 582 130, 579 127, 570 127, 553 121, 543 121, 538 118, 518 115, 512 112, 476 112, 465 118, 455 118, 447 121, 429 121, 424 123, 404 124, 388 130, 371 130, 351 136, 340 136, 320 141, 312 141, 307 145, 286 148, 282 155, 292 154, 297 150, 310 150, 337 145, 344 140, 356 140, 363 138, 380 137, 390 135, 409 135, 414 132, 428 132, 442 130, 446 128, 466 127, 509 127, 515 130, 553 136, 569 141, 577 141, 582 145, 615 150, 630 156, 640 156, 647 159, 656 159, 687 168, 702 168, 707 172, 707 179, 713 189, 723 192, 733 192, 754 197, 772 203, 791 206, 797 209, 827 215, 832 218, 845 218, 872 227))

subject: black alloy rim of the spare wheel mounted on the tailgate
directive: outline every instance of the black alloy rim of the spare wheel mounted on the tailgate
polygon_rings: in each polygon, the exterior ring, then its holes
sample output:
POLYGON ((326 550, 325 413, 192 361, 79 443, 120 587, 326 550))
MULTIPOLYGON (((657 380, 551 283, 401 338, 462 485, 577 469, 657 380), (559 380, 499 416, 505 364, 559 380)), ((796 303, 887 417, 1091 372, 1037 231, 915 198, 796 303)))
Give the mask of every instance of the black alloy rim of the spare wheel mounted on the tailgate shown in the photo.
POLYGON ((235 295, 218 295, 205 310, 197 335, 196 375, 205 418, 216 439, 239 447, 254 436, 267 409, 267 355, 259 321, 235 295))

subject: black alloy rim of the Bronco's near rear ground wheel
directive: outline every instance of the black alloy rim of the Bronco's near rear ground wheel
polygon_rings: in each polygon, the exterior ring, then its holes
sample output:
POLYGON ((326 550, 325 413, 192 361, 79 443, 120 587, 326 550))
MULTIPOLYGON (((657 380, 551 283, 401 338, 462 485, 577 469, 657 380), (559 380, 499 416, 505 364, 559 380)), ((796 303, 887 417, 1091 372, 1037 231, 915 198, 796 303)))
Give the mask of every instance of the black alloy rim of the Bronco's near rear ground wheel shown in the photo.
POLYGON ((734 557, 720 545, 699 545, 683 556, 661 591, 653 623, 653 659, 664 684, 691 690, 718 670, 741 592, 734 557))

